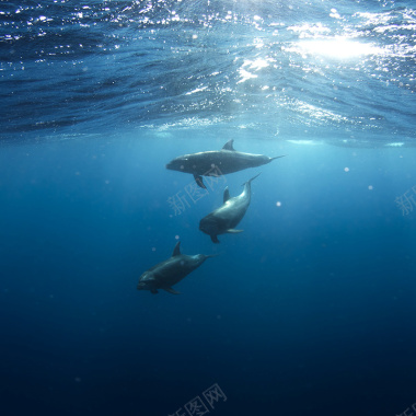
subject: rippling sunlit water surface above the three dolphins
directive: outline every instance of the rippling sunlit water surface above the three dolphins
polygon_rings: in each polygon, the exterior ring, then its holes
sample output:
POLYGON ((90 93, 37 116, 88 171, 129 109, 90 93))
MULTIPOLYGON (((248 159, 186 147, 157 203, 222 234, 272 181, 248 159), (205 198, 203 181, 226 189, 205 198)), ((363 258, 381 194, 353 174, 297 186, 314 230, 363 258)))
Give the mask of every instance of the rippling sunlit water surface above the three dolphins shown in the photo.
POLYGON ((409 1, 27 1, 0 18, 3 137, 219 125, 415 139, 409 1))

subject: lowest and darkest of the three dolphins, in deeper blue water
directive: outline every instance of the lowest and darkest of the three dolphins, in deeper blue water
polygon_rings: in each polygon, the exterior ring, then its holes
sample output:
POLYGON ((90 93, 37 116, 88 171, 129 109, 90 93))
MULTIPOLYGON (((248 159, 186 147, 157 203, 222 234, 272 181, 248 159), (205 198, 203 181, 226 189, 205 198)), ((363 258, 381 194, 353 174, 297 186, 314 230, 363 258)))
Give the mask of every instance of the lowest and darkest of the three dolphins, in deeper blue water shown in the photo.
POLYGON ((149 268, 140 276, 137 285, 138 290, 150 290, 155 294, 158 289, 163 289, 172 294, 180 294, 172 289, 172 286, 198 268, 207 258, 216 256, 216 254, 195 254, 193 256, 181 254, 180 245, 181 242, 178 241, 173 250, 172 257, 149 268))

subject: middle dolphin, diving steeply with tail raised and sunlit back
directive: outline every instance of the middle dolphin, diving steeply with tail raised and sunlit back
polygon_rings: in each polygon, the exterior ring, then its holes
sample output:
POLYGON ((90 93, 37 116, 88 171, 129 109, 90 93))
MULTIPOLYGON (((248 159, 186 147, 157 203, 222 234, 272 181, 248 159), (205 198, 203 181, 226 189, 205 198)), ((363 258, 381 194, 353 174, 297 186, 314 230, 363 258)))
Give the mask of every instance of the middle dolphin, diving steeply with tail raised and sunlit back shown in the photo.
POLYGON ((223 205, 204 217, 199 222, 199 230, 210 235, 212 243, 219 243, 218 234, 238 233, 243 230, 235 230, 234 227, 243 219, 251 200, 251 183, 259 173, 244 183, 244 190, 230 198, 228 186, 224 189, 223 205))

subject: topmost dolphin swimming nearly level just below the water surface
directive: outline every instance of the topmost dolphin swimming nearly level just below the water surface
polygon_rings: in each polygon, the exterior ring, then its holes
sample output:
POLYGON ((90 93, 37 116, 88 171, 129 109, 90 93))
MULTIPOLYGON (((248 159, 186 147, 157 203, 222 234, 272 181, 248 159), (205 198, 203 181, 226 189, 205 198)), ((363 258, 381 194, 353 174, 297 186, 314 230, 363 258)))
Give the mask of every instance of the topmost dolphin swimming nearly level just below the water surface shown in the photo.
POLYGON ((284 155, 269 158, 264 154, 238 152, 233 148, 234 140, 229 140, 221 150, 209 150, 199 153, 184 154, 173 159, 166 164, 166 169, 192 173, 195 182, 201 188, 206 188, 203 176, 219 176, 242 171, 247 167, 257 167, 270 163, 284 155))

